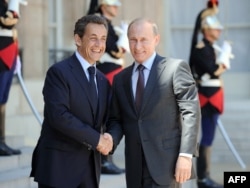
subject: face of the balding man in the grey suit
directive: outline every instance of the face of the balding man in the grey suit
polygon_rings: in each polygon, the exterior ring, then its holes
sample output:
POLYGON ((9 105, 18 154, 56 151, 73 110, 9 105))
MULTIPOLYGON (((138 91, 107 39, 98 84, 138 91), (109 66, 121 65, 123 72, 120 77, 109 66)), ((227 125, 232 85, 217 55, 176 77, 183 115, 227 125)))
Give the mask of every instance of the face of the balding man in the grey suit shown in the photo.
POLYGON ((146 61, 155 52, 159 38, 159 35, 153 32, 150 23, 139 22, 131 25, 128 31, 128 40, 135 61, 138 63, 146 61))

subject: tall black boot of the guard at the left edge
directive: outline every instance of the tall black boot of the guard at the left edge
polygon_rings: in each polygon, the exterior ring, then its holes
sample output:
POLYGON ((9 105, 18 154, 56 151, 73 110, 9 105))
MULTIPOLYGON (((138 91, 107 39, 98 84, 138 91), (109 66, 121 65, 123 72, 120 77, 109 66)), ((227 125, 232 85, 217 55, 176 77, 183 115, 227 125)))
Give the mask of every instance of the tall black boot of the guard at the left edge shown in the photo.
POLYGON ((18 155, 21 151, 5 143, 5 105, 0 105, 0 156, 18 155))

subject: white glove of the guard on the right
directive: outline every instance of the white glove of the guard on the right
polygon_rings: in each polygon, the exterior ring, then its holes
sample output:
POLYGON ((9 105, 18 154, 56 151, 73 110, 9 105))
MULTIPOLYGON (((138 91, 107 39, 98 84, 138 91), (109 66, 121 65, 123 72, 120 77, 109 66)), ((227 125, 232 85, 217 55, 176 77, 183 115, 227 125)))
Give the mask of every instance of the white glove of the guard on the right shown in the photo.
POLYGON ((230 59, 232 58, 232 46, 228 41, 224 41, 217 58, 217 63, 223 64, 227 69, 230 69, 230 59))

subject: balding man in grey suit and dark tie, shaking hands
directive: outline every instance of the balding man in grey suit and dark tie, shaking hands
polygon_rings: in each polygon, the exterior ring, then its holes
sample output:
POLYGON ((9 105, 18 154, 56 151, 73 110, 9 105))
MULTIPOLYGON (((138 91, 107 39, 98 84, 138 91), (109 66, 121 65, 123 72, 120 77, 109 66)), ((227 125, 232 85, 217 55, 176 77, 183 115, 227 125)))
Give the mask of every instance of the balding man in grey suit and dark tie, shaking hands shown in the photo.
POLYGON ((176 188, 195 177, 200 125, 195 81, 186 62, 155 52, 159 38, 152 21, 132 21, 128 39, 135 62, 112 85, 107 132, 113 149, 125 136, 128 188, 176 188))

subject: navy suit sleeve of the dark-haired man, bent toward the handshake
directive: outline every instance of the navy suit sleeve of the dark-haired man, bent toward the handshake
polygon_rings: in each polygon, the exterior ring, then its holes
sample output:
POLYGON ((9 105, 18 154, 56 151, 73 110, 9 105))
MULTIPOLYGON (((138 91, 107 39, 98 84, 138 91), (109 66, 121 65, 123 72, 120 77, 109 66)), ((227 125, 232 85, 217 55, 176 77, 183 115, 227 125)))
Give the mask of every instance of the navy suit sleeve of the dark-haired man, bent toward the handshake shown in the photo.
POLYGON ((62 69, 65 68, 68 67, 54 66, 47 73, 43 88, 45 122, 57 134, 63 134, 65 139, 75 140, 89 149, 95 149, 100 133, 93 128, 90 120, 81 119, 82 116, 91 117, 91 112, 84 102, 86 96, 82 90, 79 91, 83 95, 82 99, 71 96, 72 90, 77 94, 79 92, 76 91, 77 85, 72 84, 74 80, 69 78, 71 74, 63 72, 62 69))

